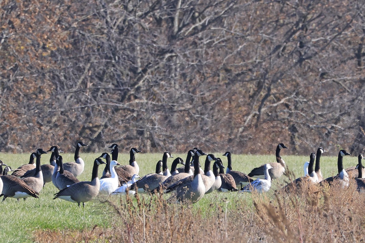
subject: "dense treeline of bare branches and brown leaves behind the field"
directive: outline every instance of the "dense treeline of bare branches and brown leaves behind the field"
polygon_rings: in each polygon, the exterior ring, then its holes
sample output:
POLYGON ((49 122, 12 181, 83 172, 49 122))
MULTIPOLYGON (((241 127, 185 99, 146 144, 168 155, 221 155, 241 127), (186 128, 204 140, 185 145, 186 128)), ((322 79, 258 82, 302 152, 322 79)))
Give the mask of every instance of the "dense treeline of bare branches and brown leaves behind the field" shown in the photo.
POLYGON ((3 152, 363 152, 364 1, 0 5, 3 152))

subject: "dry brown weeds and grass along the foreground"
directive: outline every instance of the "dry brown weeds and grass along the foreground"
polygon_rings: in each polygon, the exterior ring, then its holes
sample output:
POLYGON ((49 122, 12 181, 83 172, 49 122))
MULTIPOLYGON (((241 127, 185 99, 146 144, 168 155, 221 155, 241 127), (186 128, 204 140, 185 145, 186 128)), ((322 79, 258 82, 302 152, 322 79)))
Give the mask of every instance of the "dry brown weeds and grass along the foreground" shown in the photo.
MULTIPOLYGON (((224 203, 201 212, 163 195, 105 200, 112 228, 37 231, 37 242, 363 242, 364 196, 355 183, 304 187, 300 195, 253 195, 254 207, 224 203), (256 198, 256 199, 255 199, 256 198), (223 205, 223 206, 222 206, 223 205)), ((239 205, 240 203, 237 203, 239 205)), ((242 204, 242 203, 241 203, 242 204)))

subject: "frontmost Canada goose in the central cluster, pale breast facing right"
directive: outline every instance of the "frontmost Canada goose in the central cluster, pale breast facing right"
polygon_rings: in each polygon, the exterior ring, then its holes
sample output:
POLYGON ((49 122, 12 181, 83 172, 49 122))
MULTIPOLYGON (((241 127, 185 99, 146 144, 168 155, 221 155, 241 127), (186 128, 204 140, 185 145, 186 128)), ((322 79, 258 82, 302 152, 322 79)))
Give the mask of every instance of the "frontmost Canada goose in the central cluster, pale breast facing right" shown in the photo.
MULTIPOLYGON (((205 186, 202 179, 202 175, 199 173, 199 152, 195 152, 194 155, 194 175, 193 180, 184 186, 176 189, 176 194, 172 195, 168 201, 182 202, 182 203, 196 203, 199 201, 205 193, 205 186)), ((204 155, 204 152, 202 152, 204 155)), ((188 178, 188 177, 187 177, 188 178)), ((185 178, 186 179, 186 178, 185 178)), ((184 179, 183 179, 184 180, 184 179)))

